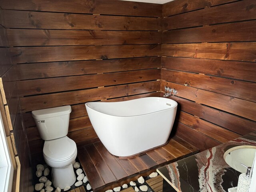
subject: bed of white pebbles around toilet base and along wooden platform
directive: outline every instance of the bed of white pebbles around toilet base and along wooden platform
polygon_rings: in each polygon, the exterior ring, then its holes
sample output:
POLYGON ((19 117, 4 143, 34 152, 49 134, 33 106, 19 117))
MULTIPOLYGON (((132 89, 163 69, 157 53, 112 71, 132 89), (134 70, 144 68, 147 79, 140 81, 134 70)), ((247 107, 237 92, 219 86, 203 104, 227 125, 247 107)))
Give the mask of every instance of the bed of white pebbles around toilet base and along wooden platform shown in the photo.
MULTIPOLYGON (((86 192, 93 192, 90 182, 82 169, 78 160, 73 163, 74 172, 76 173, 76 182, 72 186, 67 186, 64 190, 60 188, 55 188, 52 184, 52 174, 51 167, 47 164, 38 164, 36 166, 35 173, 35 192, 64 192, 70 191, 77 187, 84 186, 86 192)), ((114 189, 106 190, 106 192, 120 192, 128 187, 132 187, 135 192, 154 192, 150 186, 146 183, 146 180, 156 177, 158 174, 153 172, 149 176, 141 176, 138 180, 131 181, 128 184, 123 184, 122 186, 116 187, 114 189)))

